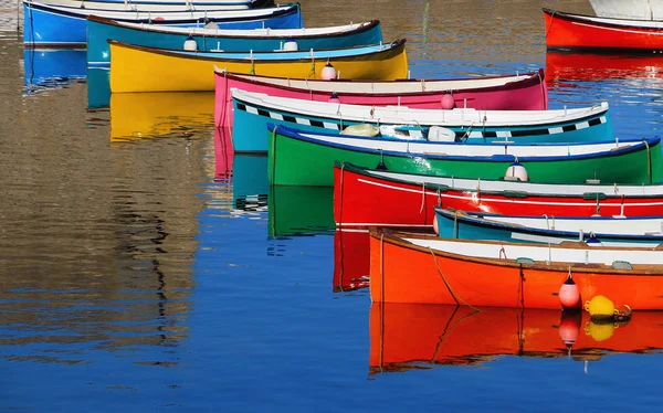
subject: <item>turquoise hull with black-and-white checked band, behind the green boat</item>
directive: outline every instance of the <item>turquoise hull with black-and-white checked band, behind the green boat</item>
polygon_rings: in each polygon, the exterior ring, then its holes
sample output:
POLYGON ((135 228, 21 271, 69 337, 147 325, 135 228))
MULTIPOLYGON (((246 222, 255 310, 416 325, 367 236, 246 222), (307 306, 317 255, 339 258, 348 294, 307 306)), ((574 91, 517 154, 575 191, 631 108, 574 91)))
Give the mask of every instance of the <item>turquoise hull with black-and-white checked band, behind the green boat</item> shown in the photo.
MULTIPOLYGON (((335 113, 329 109, 319 115, 309 115, 297 112, 296 104, 291 103, 288 107, 278 107, 272 104, 267 96, 261 103, 249 100, 233 94, 233 145, 238 152, 265 152, 267 142, 264 130, 267 124, 284 127, 294 127, 308 133, 333 133, 339 134, 344 128, 351 125, 372 125, 380 128, 393 128, 393 135, 399 136, 397 129, 408 129, 402 133, 403 139, 423 140, 432 126, 442 126, 455 134, 455 139, 466 139, 469 142, 499 142, 511 144, 560 144, 560 142, 591 142, 613 139, 612 123, 607 107, 588 110, 583 117, 567 118, 551 123, 548 119, 523 125, 517 120, 492 120, 485 125, 475 124, 467 118, 454 120, 444 119, 445 112, 430 110, 438 116, 429 119, 417 118, 417 114, 404 110, 393 115, 393 118, 383 119, 376 115, 375 118, 362 116, 348 116, 343 108, 333 105, 335 113), (466 136, 466 138, 464 138, 466 136)), ((367 113, 370 106, 367 107, 367 113)), ((453 115, 453 114, 452 114, 453 115)), ((476 114, 473 114, 476 115, 476 114)), ((484 114, 484 117, 486 115, 484 114)), ((492 115, 487 114, 490 118, 492 115)), ((385 134, 382 134, 385 136, 385 134)), ((390 136, 391 137, 391 136, 390 136)))

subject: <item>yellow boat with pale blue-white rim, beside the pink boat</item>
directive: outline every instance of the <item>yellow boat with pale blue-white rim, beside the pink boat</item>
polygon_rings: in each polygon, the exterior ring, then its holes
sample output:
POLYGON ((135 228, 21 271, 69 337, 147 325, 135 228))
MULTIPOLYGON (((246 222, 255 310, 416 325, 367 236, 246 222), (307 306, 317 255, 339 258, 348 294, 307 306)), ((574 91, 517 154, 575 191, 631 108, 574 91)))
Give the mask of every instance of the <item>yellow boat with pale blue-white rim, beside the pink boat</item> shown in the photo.
POLYGON ((108 41, 110 92, 214 89, 214 66, 264 76, 393 81, 408 77, 406 40, 306 52, 186 52, 108 41), (327 66, 327 63, 330 66, 327 66))

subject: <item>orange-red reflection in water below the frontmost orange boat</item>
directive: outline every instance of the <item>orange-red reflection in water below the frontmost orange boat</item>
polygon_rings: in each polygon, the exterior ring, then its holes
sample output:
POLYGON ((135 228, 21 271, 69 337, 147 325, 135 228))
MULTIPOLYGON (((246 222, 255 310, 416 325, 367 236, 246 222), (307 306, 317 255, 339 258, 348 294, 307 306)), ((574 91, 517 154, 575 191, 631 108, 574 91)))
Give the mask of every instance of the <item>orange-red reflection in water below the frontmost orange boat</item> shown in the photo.
MULTIPOLYGON (((663 313, 597 324, 587 311, 378 304, 370 309, 370 373, 481 364, 499 356, 598 360, 663 348, 663 313)), ((586 366, 587 368, 587 366, 586 366)))

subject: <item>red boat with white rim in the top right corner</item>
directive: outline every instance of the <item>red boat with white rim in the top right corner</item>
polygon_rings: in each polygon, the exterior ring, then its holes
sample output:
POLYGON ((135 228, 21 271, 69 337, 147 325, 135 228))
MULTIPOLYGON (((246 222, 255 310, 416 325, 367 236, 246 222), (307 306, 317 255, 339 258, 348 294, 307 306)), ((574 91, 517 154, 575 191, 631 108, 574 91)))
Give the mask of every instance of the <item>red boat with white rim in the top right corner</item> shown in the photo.
POLYGON ((619 53, 663 51, 663 21, 597 18, 544 9, 548 50, 619 53))

